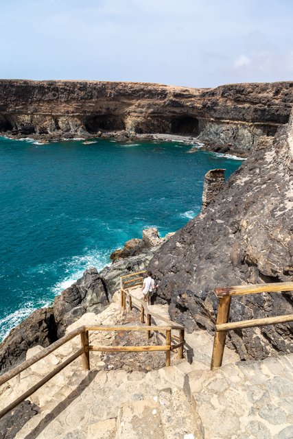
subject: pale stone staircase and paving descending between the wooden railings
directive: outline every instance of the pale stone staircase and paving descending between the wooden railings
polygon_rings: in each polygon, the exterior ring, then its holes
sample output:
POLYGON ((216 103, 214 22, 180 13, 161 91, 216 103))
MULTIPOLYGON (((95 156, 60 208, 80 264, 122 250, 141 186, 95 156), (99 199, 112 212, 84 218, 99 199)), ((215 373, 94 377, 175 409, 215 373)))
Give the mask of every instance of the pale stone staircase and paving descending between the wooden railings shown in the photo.
MULTIPOLYGON (((152 308, 167 316, 167 307, 152 308)), ((119 297, 115 297, 105 311, 98 316, 84 314, 68 331, 82 324, 121 324, 121 318, 119 297)), ((95 333, 91 342, 115 344, 114 337, 95 333)), ((235 352, 226 348, 224 366, 210 371, 213 337, 197 331, 187 334, 186 342, 192 364, 172 354, 172 366, 150 372, 112 369, 102 353, 91 353, 91 371, 84 372, 76 359, 31 396, 40 413, 15 438, 293 438, 293 355, 239 362, 235 352)), ((16 393, 26 390, 79 346, 80 340, 73 339, 12 379, 1 394, 0 406, 10 403, 16 393)), ((28 356, 40 349, 36 346, 28 356)), ((143 361, 136 353, 129 355, 143 361)))

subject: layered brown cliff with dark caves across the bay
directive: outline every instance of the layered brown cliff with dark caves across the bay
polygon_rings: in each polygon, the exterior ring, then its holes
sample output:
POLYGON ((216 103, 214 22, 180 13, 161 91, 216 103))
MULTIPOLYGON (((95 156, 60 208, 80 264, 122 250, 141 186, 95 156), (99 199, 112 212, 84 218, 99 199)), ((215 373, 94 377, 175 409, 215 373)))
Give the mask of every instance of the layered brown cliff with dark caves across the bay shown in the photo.
POLYGON ((191 134, 252 150, 287 123, 293 82, 187 88, 99 81, 0 80, 0 132, 38 136, 191 134))

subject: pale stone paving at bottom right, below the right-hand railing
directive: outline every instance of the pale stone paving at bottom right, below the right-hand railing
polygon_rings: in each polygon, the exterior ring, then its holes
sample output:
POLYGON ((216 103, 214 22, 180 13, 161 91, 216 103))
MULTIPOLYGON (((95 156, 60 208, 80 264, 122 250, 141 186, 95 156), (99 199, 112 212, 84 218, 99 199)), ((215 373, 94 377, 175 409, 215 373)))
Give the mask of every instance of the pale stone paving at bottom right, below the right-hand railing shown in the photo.
POLYGON ((185 392, 204 439, 292 439, 293 354, 190 372, 185 392))

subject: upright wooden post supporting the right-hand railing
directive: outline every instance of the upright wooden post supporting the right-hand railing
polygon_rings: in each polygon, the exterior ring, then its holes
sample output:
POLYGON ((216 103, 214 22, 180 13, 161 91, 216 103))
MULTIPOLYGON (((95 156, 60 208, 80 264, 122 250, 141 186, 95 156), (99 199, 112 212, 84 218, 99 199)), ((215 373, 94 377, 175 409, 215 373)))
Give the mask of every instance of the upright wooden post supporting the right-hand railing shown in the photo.
MULTIPOLYGON (((229 311, 231 304, 231 296, 221 297, 219 299, 217 323, 228 322, 229 311)), ((224 347, 226 342, 227 331, 215 331, 213 339, 213 353, 211 355, 211 370, 222 366, 222 360, 224 355, 224 347)))

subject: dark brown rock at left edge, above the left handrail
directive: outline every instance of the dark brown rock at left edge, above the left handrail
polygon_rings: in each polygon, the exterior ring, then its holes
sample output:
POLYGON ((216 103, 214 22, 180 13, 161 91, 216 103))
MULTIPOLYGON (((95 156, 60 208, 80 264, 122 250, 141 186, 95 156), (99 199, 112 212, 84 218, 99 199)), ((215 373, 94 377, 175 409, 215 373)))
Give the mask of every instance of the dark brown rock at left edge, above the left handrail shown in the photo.
POLYGON ((46 347, 57 340, 53 308, 34 311, 10 331, 0 345, 0 370, 11 368, 25 360, 27 349, 40 344, 46 347))

